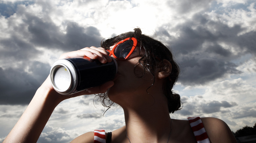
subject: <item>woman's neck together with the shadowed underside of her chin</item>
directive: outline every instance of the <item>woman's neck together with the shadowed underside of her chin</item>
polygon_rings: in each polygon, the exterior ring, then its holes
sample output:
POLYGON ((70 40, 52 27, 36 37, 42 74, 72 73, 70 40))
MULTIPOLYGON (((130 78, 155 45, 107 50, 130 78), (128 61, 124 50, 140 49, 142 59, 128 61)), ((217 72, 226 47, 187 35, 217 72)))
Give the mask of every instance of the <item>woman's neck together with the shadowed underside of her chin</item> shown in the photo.
MULTIPOLYGON (((120 92, 109 96, 124 110, 126 133, 131 143, 167 142, 171 132, 171 118, 161 83, 156 80, 149 89, 143 85, 144 88, 140 86, 129 94, 120 92)), ((126 142, 129 142, 128 138, 126 142)))

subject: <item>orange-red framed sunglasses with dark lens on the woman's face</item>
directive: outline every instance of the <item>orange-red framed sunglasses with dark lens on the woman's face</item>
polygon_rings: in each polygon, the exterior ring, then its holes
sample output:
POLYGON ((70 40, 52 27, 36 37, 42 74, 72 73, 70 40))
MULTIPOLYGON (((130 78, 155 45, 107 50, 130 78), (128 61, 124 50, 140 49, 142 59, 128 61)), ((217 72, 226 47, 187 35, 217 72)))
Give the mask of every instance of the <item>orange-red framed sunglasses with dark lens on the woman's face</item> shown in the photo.
POLYGON ((107 51, 110 52, 109 56, 113 55, 118 60, 125 60, 133 53, 136 46, 137 39, 131 37, 118 42, 111 51, 107 51))

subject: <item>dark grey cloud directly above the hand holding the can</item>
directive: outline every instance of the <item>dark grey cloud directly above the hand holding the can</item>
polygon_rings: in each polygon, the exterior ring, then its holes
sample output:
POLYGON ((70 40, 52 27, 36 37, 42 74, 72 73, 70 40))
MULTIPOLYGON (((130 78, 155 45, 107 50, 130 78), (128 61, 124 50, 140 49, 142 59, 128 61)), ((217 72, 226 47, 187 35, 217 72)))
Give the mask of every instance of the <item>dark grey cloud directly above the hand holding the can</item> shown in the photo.
POLYGON ((81 27, 75 22, 67 22, 66 33, 53 22, 27 14, 24 22, 28 24, 28 31, 32 38, 31 43, 45 48, 74 51, 84 47, 98 46, 102 37, 97 28, 81 27))

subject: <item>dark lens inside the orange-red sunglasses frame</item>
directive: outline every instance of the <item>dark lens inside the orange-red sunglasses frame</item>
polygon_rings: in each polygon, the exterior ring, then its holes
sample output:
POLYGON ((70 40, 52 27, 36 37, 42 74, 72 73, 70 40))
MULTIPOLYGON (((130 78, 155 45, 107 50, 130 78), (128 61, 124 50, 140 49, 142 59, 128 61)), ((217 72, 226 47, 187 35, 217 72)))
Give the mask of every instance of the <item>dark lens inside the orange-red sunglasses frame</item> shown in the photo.
POLYGON ((118 58, 124 59, 132 50, 133 47, 133 40, 127 40, 124 41, 123 43, 120 43, 117 45, 117 47, 114 50, 115 56, 118 58))

